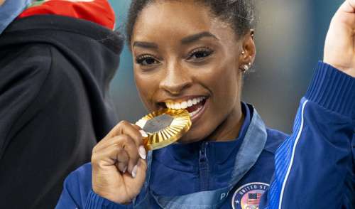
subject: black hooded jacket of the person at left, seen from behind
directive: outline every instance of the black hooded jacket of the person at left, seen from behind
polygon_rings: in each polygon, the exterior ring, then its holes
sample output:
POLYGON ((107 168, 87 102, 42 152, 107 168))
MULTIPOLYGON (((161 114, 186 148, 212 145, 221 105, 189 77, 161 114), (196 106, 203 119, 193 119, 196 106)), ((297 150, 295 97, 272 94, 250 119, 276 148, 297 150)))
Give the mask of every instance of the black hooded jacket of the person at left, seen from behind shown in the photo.
POLYGON ((0 35, 0 208, 54 208, 70 171, 116 123, 109 82, 123 38, 40 15, 0 35))

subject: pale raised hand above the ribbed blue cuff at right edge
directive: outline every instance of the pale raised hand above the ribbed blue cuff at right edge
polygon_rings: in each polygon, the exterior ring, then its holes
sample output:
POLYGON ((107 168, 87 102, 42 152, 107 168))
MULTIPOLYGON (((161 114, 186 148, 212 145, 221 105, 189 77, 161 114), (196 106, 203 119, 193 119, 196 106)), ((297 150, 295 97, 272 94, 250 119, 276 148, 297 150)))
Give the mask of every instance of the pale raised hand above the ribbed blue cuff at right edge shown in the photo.
POLYGON ((332 18, 323 61, 355 77, 355 0, 346 0, 332 18))

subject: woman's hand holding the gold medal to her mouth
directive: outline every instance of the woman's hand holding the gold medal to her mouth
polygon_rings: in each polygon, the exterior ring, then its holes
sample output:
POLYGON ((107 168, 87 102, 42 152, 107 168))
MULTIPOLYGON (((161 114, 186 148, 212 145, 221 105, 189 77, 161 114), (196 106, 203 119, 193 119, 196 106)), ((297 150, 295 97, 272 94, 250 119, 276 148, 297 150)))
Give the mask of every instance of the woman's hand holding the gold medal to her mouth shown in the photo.
POLYGON ((140 193, 146 179, 143 130, 120 122, 92 151, 92 189, 115 203, 127 204, 140 193))

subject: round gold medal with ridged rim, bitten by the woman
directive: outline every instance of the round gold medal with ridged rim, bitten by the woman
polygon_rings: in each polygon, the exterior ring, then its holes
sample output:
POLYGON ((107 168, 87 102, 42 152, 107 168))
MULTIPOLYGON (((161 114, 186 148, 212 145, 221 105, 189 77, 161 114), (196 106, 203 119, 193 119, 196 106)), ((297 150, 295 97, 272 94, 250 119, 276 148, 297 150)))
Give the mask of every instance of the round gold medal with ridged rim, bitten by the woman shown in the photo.
POLYGON ((147 114, 136 124, 148 134, 143 141, 147 150, 160 149, 173 144, 191 127, 186 109, 162 109, 147 114))

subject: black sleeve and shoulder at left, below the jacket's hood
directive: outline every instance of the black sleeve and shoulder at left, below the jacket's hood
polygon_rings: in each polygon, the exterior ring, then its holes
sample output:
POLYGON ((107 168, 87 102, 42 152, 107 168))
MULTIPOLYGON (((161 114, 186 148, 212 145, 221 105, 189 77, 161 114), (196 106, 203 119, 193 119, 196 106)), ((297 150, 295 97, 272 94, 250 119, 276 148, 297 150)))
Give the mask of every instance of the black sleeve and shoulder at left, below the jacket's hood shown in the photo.
POLYGON ((96 143, 80 75, 53 50, 26 45, 0 60, 0 208, 53 208, 96 143))

